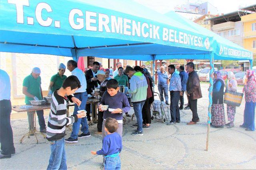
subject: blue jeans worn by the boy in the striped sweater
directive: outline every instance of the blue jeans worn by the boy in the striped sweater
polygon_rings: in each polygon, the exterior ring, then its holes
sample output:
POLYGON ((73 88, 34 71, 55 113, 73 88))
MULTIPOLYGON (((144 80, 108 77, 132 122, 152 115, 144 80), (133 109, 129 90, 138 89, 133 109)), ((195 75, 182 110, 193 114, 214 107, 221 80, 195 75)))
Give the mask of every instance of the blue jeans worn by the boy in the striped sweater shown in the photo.
POLYGON ((51 156, 47 170, 66 170, 66 152, 64 148, 64 138, 58 141, 51 141, 51 156))

